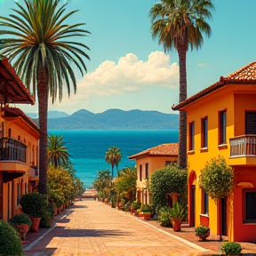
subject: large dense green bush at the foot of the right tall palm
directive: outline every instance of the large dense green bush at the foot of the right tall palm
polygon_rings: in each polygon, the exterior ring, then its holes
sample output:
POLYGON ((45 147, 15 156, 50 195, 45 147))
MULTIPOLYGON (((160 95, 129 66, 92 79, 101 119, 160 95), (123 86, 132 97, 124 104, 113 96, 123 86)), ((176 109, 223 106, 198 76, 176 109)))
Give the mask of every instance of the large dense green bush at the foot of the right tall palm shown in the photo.
POLYGON ((172 164, 164 169, 153 172, 151 177, 152 203, 156 211, 167 204, 166 194, 177 193, 180 196, 187 195, 187 176, 186 169, 180 169, 178 164, 172 164))

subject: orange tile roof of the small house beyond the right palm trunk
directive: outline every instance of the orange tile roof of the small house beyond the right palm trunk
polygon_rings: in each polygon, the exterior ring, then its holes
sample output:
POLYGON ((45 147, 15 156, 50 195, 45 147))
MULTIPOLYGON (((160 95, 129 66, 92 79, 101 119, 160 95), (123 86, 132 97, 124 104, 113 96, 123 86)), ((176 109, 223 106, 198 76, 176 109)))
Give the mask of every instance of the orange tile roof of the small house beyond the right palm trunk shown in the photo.
POLYGON ((148 148, 140 153, 129 156, 129 159, 136 159, 141 156, 178 156, 179 143, 164 143, 154 148, 148 148))

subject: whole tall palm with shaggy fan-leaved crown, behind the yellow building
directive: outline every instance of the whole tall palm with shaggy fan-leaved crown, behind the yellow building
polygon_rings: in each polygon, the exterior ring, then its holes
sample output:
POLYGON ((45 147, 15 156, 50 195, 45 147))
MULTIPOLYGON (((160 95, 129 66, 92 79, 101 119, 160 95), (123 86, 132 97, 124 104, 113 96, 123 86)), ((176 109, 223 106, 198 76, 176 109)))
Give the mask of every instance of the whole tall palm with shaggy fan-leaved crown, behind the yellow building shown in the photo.
MULTIPOLYGON (((190 46, 199 49, 204 43, 202 33, 210 37, 212 29, 205 19, 212 18, 214 9, 212 0, 160 0, 155 4, 149 16, 152 21, 151 34, 158 37, 158 44, 163 44, 164 52, 176 49, 180 60, 180 99, 187 99, 186 54, 190 46)), ((187 116, 180 111, 179 164, 187 166, 187 116)))

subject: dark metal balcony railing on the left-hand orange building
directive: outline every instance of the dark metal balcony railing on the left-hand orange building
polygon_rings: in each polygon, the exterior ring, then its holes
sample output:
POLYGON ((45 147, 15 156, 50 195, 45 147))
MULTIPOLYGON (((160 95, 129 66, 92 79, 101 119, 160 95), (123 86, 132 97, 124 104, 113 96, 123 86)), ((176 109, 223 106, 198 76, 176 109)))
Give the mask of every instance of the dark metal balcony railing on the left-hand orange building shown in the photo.
POLYGON ((20 161, 26 163, 27 146, 12 138, 0 139, 0 161, 20 161))

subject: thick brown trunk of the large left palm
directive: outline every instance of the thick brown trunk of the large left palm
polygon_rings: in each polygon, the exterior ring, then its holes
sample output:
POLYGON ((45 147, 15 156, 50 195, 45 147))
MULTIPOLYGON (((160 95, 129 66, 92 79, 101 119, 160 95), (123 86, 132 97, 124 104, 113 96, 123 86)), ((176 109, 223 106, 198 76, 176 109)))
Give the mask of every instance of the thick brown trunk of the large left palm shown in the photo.
POLYGON ((38 192, 47 194, 47 115, 48 115, 48 86, 47 74, 44 70, 38 74, 37 98, 40 126, 40 144, 39 144, 39 184, 38 192))

